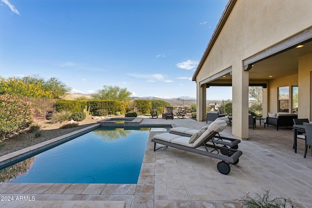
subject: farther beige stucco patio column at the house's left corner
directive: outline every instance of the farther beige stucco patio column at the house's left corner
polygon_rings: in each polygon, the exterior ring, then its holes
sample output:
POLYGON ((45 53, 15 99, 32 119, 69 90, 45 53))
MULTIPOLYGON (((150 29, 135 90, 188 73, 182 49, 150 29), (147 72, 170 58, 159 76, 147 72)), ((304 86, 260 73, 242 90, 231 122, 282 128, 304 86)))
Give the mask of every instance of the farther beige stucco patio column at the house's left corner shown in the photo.
POLYGON ((196 86, 196 120, 204 121, 206 120, 206 84, 200 86, 199 83, 197 83, 196 86))

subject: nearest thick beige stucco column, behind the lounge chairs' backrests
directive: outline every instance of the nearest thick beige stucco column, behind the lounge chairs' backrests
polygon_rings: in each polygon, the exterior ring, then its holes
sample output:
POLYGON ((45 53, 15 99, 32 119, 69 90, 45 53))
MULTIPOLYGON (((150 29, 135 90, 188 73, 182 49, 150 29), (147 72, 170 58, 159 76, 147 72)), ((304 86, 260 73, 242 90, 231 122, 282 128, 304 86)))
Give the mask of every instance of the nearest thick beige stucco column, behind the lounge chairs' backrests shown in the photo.
POLYGON ((232 133, 238 139, 247 140, 249 71, 244 71, 242 61, 237 60, 232 66, 232 75, 232 133))

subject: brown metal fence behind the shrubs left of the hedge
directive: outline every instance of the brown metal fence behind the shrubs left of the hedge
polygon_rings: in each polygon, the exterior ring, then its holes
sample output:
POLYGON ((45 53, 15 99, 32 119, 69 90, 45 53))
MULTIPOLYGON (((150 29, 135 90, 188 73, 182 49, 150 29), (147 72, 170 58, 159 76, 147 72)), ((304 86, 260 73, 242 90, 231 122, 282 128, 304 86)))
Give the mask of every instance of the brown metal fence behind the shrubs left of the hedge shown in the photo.
POLYGON ((48 112, 55 111, 55 103, 58 101, 58 99, 48 99, 45 97, 18 96, 18 98, 31 104, 35 109, 35 117, 37 119, 45 119, 45 115, 48 112))

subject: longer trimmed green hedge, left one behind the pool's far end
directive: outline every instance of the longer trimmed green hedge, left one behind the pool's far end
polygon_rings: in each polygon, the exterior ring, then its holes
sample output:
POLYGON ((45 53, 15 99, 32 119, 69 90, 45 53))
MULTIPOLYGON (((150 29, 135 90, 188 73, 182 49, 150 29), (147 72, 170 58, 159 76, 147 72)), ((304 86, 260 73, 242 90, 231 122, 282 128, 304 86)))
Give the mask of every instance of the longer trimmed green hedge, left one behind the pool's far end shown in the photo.
POLYGON ((98 101, 86 101, 86 100, 59 100, 56 102, 56 110, 68 110, 72 113, 82 112, 83 109, 90 106, 90 113, 95 114, 100 109, 107 110, 108 114, 115 114, 120 112, 126 113, 127 104, 118 100, 98 100, 98 101))

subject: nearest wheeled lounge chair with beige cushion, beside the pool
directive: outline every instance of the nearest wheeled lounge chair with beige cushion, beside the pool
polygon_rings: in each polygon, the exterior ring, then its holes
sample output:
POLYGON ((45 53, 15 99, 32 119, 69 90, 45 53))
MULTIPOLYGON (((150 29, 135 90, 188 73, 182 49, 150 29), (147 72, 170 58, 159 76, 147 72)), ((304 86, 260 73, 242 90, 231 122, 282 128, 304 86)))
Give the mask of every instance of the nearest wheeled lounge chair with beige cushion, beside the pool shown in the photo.
POLYGON ((196 154, 212 157, 221 160, 217 164, 217 169, 222 174, 228 174, 231 171, 230 164, 237 164, 242 151, 231 148, 220 147, 215 145, 212 140, 218 132, 223 131, 227 126, 225 121, 214 121, 211 123, 206 131, 198 131, 191 138, 188 136, 181 136, 173 133, 161 133, 153 137, 154 151, 164 147, 173 147, 179 150, 190 151, 196 154), (200 135, 200 136, 199 136, 200 135), (212 142, 209 142, 212 140, 212 142), (156 143, 165 145, 156 149, 156 143), (200 148, 204 146, 204 149, 200 148), (212 150, 208 150, 211 148, 212 150), (219 151, 227 151, 227 155, 219 154, 219 151))

